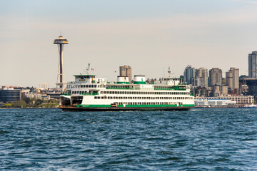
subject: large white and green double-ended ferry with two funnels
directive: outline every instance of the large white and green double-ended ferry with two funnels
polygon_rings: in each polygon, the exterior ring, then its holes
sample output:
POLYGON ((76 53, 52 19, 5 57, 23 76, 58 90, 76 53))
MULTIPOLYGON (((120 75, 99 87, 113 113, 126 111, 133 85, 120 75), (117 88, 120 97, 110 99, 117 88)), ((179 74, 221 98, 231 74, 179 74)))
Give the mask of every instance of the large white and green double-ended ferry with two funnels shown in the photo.
POLYGON ((145 76, 118 76, 108 82, 96 75, 79 74, 67 83, 66 93, 60 97, 63 110, 119 111, 119 110, 190 110, 194 107, 190 87, 181 78, 162 78, 146 83, 145 76))

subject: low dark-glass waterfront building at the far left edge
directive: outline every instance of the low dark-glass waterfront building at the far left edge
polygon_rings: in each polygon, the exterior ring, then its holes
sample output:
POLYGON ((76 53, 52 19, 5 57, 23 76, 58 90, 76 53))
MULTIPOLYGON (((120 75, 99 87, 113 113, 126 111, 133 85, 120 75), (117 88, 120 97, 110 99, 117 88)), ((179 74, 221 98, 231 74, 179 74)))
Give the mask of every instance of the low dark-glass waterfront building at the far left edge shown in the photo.
POLYGON ((4 103, 16 102, 21 100, 21 90, 13 87, 3 86, 0 89, 0 101, 4 103))

